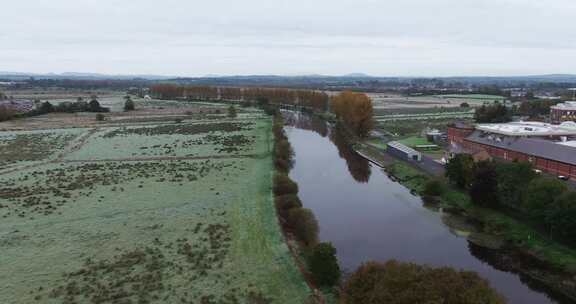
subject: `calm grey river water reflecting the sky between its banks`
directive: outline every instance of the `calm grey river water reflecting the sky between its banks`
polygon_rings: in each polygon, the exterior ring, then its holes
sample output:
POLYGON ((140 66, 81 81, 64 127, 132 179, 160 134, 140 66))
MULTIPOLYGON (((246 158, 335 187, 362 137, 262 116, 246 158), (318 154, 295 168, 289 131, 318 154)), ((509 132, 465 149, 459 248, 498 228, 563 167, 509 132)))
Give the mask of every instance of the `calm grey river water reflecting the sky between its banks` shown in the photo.
POLYGON ((441 213, 357 155, 324 121, 293 112, 284 116, 295 152, 290 176, 318 219, 320 239, 333 243, 345 271, 389 259, 451 266, 478 272, 509 303, 561 303, 538 284, 491 266, 485 249, 453 232, 441 213))

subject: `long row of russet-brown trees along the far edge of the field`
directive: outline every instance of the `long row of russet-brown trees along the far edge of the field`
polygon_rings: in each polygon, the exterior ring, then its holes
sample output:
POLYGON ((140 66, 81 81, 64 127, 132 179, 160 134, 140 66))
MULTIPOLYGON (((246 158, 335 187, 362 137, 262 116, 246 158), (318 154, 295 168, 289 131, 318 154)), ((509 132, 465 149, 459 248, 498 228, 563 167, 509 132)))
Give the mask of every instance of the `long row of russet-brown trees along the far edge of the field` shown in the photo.
POLYGON ((250 103, 295 105, 319 111, 328 109, 328 94, 312 90, 279 88, 231 88, 158 84, 150 87, 153 96, 161 99, 214 100, 250 103))

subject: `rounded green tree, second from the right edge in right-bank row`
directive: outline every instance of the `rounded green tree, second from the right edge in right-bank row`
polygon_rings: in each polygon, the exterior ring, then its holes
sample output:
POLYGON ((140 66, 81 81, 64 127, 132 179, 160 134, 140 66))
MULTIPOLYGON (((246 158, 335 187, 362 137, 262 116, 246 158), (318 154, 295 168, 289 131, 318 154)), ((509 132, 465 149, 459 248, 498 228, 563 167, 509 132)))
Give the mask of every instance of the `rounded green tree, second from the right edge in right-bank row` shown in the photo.
POLYGON ((540 177, 528 184, 523 207, 534 218, 543 220, 554 203, 554 198, 566 191, 566 184, 556 179, 540 177))

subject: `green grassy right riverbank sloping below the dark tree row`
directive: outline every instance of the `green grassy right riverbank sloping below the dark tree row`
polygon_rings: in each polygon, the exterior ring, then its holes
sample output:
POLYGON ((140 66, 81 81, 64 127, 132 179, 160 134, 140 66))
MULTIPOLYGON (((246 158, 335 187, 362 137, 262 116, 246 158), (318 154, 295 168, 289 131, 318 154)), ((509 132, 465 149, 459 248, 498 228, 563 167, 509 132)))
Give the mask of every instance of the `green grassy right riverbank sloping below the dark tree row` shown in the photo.
MULTIPOLYGON (((434 179, 399 160, 380 157, 379 161, 385 163, 386 172, 395 180, 418 194, 423 194, 426 183, 434 179)), ((544 285, 566 302, 576 301, 576 250, 505 213, 475 206, 467 193, 446 183, 444 186, 441 195, 424 200, 428 207, 447 214, 445 224, 465 230, 471 243, 490 249, 498 267, 544 285)))

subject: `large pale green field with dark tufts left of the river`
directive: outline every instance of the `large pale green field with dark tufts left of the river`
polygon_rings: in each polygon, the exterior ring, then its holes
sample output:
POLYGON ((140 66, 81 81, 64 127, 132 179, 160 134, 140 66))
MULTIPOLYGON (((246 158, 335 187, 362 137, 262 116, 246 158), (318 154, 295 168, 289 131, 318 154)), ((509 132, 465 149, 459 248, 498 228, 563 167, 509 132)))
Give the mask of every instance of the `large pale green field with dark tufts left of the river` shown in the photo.
POLYGON ((0 173, 0 303, 306 301, 272 202, 269 118, 72 134, 0 173))

